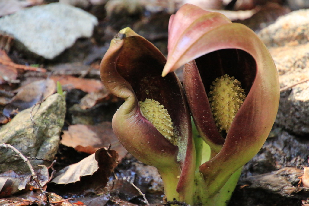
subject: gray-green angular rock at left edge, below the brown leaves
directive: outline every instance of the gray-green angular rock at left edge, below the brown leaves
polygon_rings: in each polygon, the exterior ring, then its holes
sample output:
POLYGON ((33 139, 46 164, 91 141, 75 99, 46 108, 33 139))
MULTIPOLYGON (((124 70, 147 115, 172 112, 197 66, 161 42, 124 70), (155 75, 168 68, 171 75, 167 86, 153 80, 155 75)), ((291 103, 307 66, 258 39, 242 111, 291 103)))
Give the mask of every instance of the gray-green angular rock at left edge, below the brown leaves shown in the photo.
MULTIPOLYGON (((31 108, 19 112, 0 129, 0 142, 14 146, 25 156, 53 160, 64 124, 65 105, 64 96, 49 96, 33 109, 35 124, 30 117, 31 108)), ((42 160, 29 160, 33 166, 50 165, 50 162, 42 160)), ((26 164, 11 150, 0 148, 0 173, 10 169, 19 174, 29 172, 26 164)))

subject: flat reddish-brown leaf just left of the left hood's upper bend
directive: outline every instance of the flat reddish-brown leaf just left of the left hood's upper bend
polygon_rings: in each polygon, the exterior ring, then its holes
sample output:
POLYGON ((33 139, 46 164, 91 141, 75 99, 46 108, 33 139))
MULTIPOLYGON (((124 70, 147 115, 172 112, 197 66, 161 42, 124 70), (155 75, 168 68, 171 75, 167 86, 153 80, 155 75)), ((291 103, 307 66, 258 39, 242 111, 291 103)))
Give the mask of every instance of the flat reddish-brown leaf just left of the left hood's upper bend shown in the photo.
POLYGON ((80 89, 90 93, 104 88, 102 82, 95 79, 83 79, 69 75, 52 76, 51 79, 55 82, 59 81, 65 90, 80 89))

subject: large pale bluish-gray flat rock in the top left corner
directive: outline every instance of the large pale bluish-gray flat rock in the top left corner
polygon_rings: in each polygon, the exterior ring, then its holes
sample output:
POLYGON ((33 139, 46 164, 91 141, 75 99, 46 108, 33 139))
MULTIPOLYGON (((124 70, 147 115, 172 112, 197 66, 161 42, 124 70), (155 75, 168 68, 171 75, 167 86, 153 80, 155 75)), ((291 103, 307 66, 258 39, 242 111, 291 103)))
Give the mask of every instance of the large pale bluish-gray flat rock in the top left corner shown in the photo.
POLYGON ((53 59, 78 38, 91 37, 98 20, 74 6, 51 3, 23 9, 0 19, 0 31, 11 34, 16 47, 53 59))

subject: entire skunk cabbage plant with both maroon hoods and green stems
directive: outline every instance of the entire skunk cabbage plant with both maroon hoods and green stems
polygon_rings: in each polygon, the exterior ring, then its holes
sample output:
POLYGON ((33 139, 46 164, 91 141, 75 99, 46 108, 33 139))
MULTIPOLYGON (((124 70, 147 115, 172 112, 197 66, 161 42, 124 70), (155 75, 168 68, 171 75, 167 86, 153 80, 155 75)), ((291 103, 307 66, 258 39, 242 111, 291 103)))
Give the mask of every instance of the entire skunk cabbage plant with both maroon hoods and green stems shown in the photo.
POLYGON ((116 136, 159 170, 167 200, 226 205, 279 104, 277 70, 256 34, 185 4, 170 18, 167 59, 125 28, 100 72, 107 89, 125 99, 112 120, 116 136), (182 65, 184 89, 173 72, 182 65))

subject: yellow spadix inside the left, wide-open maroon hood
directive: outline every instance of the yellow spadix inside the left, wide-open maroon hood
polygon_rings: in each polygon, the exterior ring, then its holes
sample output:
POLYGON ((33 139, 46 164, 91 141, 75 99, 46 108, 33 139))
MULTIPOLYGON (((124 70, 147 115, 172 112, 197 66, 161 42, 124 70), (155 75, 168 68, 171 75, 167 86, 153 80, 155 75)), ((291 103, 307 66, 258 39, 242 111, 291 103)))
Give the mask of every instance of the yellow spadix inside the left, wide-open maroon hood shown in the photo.
POLYGON ((142 114, 150 121, 155 128, 172 144, 176 145, 172 136, 174 135, 173 123, 170 115, 162 104, 154 99, 145 99, 139 102, 142 114))

